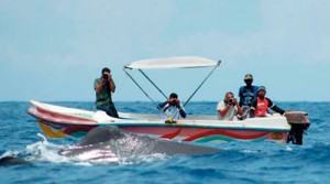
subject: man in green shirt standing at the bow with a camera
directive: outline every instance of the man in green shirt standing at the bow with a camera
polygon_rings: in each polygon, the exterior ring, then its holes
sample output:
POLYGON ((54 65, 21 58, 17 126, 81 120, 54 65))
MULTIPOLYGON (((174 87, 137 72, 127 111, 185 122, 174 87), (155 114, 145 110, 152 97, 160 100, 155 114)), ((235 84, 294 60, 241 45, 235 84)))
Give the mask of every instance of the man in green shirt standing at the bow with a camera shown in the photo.
POLYGON ((102 68, 101 77, 95 79, 94 88, 96 90, 96 108, 106 111, 111 117, 118 118, 111 96, 111 93, 116 90, 116 85, 108 67, 102 68))

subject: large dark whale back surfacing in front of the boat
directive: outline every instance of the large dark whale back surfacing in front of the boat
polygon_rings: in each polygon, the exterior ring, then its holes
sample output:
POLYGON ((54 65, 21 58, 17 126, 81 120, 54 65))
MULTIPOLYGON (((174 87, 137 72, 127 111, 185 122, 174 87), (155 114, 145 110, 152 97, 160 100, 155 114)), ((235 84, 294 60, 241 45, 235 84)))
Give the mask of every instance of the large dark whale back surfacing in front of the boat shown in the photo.
POLYGON ((78 143, 69 149, 62 150, 59 154, 75 156, 90 151, 111 151, 112 156, 118 152, 139 154, 166 154, 166 155, 201 155, 215 154, 220 149, 195 145, 184 142, 154 139, 130 133, 114 127, 98 127, 78 143))

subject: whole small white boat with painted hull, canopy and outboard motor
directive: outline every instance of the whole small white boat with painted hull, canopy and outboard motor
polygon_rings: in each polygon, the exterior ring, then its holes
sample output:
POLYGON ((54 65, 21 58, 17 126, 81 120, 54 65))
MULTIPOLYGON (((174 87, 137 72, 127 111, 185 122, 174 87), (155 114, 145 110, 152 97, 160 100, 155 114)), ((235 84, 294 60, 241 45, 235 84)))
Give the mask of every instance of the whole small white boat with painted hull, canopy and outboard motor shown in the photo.
MULTIPOLYGON (((125 65, 124 69, 139 69, 150 80, 142 69, 213 67, 185 102, 184 106, 186 106, 219 65, 220 62, 202 57, 170 57, 133 62, 125 65)), ((147 96, 129 72, 125 71, 125 73, 147 96)), ((161 91, 153 82, 151 83, 161 91)), ((167 99, 166 95, 162 94, 167 99)), ((153 99, 151 100, 155 102, 153 99)), ((304 131, 309 127, 308 115, 304 111, 232 121, 218 120, 217 116, 188 115, 185 119, 166 123, 168 121, 160 115, 119 112, 120 118, 113 118, 100 110, 89 111, 35 100, 31 100, 28 112, 36 118, 38 126, 48 138, 81 137, 96 127, 114 126, 133 133, 176 141, 228 142, 242 140, 302 144, 304 131)))

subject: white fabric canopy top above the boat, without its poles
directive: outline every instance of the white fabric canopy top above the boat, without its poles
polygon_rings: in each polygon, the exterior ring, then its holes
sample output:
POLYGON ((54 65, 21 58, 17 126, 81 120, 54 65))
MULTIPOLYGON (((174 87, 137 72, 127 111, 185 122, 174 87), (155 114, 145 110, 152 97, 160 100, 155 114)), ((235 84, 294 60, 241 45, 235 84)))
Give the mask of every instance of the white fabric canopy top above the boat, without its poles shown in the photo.
POLYGON ((220 64, 220 61, 212 61, 196 56, 182 56, 168 58, 152 58, 133 62, 125 65, 125 68, 131 69, 164 69, 164 68, 191 68, 191 67, 215 67, 220 64))

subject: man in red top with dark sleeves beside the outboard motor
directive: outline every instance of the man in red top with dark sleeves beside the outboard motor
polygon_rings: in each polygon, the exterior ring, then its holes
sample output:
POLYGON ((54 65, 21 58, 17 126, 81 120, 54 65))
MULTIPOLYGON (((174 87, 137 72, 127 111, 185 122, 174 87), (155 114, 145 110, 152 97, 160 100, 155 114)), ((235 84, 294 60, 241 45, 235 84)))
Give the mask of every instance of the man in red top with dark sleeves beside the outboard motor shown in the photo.
POLYGON ((283 115, 285 110, 277 107, 270 98, 265 97, 266 88, 261 86, 257 89, 257 98, 254 99, 251 104, 250 116, 251 117, 266 117, 268 113, 268 108, 283 115))

